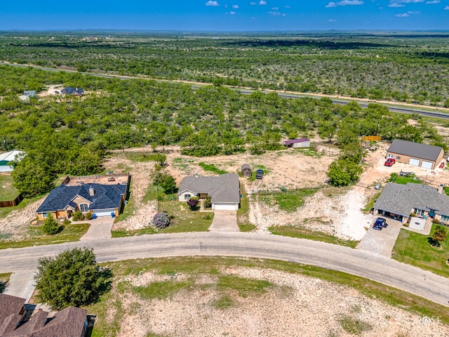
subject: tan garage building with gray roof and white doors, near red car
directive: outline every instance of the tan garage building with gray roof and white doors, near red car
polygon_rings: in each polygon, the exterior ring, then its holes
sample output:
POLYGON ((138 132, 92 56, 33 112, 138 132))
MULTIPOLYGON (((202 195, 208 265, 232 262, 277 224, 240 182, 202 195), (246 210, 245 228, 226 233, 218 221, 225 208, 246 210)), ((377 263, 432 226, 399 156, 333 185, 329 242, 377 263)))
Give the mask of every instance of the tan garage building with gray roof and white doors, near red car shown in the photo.
POLYGON ((387 159, 396 159, 399 163, 435 169, 443 159, 444 150, 439 146, 425 145, 395 139, 387 150, 387 159))

